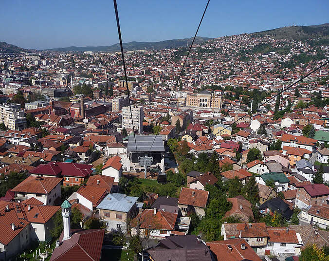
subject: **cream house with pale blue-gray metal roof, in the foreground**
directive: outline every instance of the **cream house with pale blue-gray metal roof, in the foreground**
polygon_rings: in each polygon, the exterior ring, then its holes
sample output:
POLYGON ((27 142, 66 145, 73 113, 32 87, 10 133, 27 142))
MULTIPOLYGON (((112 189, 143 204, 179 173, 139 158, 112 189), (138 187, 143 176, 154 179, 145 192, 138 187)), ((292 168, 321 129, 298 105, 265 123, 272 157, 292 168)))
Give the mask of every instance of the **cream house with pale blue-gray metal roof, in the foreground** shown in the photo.
POLYGON ((99 216, 104 220, 108 231, 127 231, 127 221, 134 218, 138 212, 137 200, 138 197, 112 193, 97 205, 99 216))

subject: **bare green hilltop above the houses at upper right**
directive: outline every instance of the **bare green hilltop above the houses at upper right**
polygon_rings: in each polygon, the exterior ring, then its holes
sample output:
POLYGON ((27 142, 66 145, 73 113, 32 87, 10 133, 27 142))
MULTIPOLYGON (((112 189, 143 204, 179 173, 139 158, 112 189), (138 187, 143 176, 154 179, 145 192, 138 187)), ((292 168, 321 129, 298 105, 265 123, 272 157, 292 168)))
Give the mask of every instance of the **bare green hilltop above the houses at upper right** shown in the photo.
POLYGON ((276 39, 302 40, 317 37, 329 37, 329 23, 309 26, 287 26, 252 33, 256 36, 272 36, 276 39))

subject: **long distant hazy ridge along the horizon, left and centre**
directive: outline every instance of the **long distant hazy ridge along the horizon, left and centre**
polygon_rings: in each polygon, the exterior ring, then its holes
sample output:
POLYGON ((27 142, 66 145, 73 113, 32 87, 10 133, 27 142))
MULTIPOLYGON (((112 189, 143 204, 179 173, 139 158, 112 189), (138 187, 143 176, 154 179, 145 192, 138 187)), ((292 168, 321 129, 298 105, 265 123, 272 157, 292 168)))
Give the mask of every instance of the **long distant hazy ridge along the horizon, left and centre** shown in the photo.
MULTIPOLYGON (((211 38, 207 37, 196 37, 195 43, 200 44, 204 41, 207 41, 211 38)), ((191 44, 192 38, 185 38, 185 39, 174 39, 174 40, 165 40, 160 42, 128 42, 124 43, 123 47, 126 51, 133 51, 133 50, 161 50, 167 48, 177 48, 183 47, 191 44)), ((70 46, 70 47, 61 47, 61 48, 54 48, 54 49, 47 49, 46 51, 78 51, 78 52, 85 52, 85 51, 93 51, 93 52, 117 52, 120 51, 120 44, 116 43, 110 46, 84 46, 84 47, 77 47, 77 46, 70 46)))

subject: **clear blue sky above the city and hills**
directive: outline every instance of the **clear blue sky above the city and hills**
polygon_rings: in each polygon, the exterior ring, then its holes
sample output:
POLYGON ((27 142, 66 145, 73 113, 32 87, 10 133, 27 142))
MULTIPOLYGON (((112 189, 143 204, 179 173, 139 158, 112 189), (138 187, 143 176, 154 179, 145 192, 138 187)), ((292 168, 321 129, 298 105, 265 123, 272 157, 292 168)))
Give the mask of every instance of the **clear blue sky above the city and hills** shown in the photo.
MULTIPOLYGON (((206 0, 118 0, 124 42, 192 37, 206 0)), ((328 23, 328 0, 210 0, 199 36, 328 23)), ((118 42, 112 0, 5 0, 0 41, 23 48, 118 42)))

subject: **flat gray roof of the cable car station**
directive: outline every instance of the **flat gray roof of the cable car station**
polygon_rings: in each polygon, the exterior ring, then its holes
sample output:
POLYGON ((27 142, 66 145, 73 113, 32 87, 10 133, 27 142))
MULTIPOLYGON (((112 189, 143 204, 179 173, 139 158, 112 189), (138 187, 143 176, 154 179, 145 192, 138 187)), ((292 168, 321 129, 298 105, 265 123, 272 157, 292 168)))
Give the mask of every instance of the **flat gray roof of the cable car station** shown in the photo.
MULTIPOLYGON (((164 152, 164 142, 162 140, 162 136, 161 135, 157 135, 156 137, 155 136, 156 135, 148 135, 148 136, 135 135, 137 151, 164 152)), ((127 151, 136 151, 135 137, 134 135, 129 136, 127 151)))

